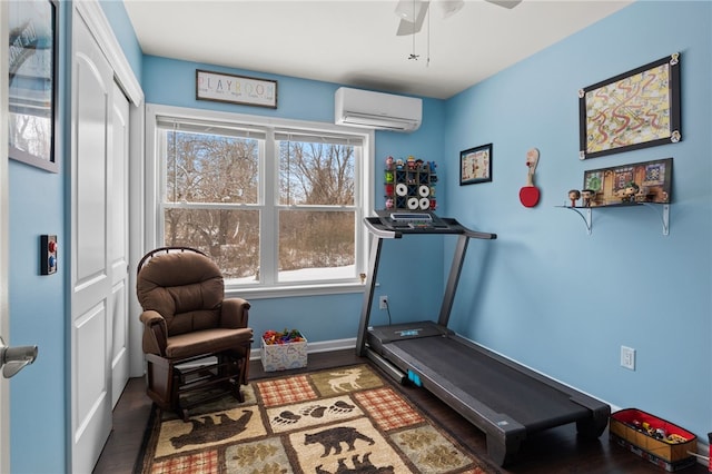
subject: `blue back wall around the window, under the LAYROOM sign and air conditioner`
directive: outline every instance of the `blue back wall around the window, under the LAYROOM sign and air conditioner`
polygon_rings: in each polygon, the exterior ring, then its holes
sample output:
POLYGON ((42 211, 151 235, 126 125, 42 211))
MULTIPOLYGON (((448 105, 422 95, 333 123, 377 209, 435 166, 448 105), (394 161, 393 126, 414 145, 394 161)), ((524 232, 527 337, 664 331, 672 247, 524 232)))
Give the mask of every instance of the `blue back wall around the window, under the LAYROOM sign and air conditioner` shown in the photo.
MULTIPOLYGON (((142 68, 142 87, 148 103, 334 122, 334 92, 339 87, 335 83, 226 69, 152 56, 145 58, 142 68), (196 100, 196 69, 276 79, 278 82, 278 108, 275 110, 196 100)), ((444 106, 442 100, 425 99, 423 125, 416 132, 376 132, 376 151, 373 159, 375 161, 377 208, 384 207, 383 164, 388 155, 394 157, 415 155, 425 161, 439 161, 443 148, 441 137, 443 136, 444 106), (433 139, 433 137, 436 138, 433 139)), ((438 277, 442 248, 442 239, 386 243, 379 270, 380 286, 378 290, 379 294, 389 296, 395 320, 398 320, 399 317, 406 319, 418 313, 422 313, 423 317, 437 314, 438 298, 443 288, 443 282, 438 277), (395 250, 388 250, 392 245, 397 245, 397 255, 395 250), (418 258, 403 258, 403 255, 418 255, 418 258), (425 269, 431 278, 404 278, 404 275, 415 275, 422 269, 425 269)), ((255 334, 261 334, 266 329, 298 327, 313 343, 353 338, 356 337, 362 298, 362 294, 348 294, 250 299, 253 305, 250 326, 253 326, 255 334)), ((375 324, 384 324, 385 318, 385 312, 378 312, 378 309, 374 312, 375 324), (383 319, 379 320, 379 317, 383 319)))

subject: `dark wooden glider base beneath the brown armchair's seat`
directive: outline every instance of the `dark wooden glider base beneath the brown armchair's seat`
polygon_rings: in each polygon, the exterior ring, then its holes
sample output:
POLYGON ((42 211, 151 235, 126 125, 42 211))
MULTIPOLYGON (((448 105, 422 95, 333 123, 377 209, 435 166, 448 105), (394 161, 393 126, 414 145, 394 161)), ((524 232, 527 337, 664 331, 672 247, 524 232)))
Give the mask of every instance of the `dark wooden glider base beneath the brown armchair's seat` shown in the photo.
POLYGON ((240 386, 247 385, 250 342, 240 350, 202 354, 168 361, 146 354, 146 393, 162 409, 176 412, 185 422, 189 411, 227 393, 245 402, 240 386))

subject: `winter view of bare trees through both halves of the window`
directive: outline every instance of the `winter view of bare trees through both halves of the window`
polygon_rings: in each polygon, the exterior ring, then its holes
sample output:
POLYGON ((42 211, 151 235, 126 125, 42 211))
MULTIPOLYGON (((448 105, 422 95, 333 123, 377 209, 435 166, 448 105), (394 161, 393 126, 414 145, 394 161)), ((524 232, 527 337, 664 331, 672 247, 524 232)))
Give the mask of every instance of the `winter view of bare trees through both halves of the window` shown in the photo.
POLYGON ((205 251, 238 285, 260 284, 265 270, 277 284, 357 280, 360 145, 318 134, 274 136, 280 139, 270 148, 268 138, 239 130, 161 129, 165 245, 205 251), (268 169, 275 196, 263 197, 268 169))

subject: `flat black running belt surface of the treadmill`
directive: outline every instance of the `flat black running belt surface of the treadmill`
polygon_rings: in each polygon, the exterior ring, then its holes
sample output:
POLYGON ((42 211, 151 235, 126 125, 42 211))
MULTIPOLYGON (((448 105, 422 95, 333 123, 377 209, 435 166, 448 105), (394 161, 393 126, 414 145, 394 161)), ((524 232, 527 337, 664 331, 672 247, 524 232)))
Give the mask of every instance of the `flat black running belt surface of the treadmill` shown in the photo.
MULTIPOLYGON (((488 355, 448 337, 390 343, 413 358, 414 368, 449 382, 494 412, 534 432, 574 422, 590 411, 568 394, 532 378, 488 355)), ((398 350, 399 352, 399 350, 398 350)))

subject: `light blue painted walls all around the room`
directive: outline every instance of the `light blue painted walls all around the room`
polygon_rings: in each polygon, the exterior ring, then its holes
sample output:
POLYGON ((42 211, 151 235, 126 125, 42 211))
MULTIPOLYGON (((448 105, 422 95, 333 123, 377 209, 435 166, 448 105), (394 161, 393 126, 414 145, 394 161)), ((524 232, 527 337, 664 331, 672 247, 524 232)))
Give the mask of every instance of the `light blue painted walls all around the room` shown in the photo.
MULTIPOLYGON (((333 120, 338 85, 142 57, 120 3, 101 6, 142 78, 148 102, 333 120), (197 102, 196 67, 278 79, 279 108, 197 102)), ((60 2, 62 17, 68 10, 60 2)), ((413 154, 439 165, 441 214, 500 236, 469 246, 453 312, 456 330, 609 403, 653 412, 700 436, 712 428, 711 23, 709 2, 639 0, 447 101, 425 99, 421 130, 376 132, 374 157, 377 207, 384 158, 413 154), (580 161, 577 90, 675 51, 683 61, 683 141, 580 161), (487 142, 494 144, 493 182, 457 186, 459 151, 487 142), (543 195, 537 207, 524 208, 518 189, 531 147, 542 152, 536 184, 543 195), (555 207, 568 189, 581 187, 586 169, 668 157, 675 159, 670 236, 646 208, 595 210, 589 236, 577 216, 555 207), (621 345, 637 349, 635 372, 620 367, 621 345)), ((66 37, 61 42, 65 78, 66 37)), ((60 90, 66 113, 68 83, 60 90)), ((60 125, 63 164, 68 134, 60 125)), ((11 160, 9 171, 11 343, 40 347, 34 365, 11 382, 11 467, 56 472, 69 445, 67 168, 52 175, 11 160), (41 277, 39 235, 55 233, 59 273, 41 277)), ((394 320, 437 314, 438 276, 446 273, 451 250, 452 243, 437 237, 385 243, 378 292, 390 297, 394 320)), ((360 295, 259 299, 251 320, 258 334, 298 326, 315 342, 349 338, 360 302, 360 295)), ((374 323, 385 323, 384 312, 374 312, 374 323)))

